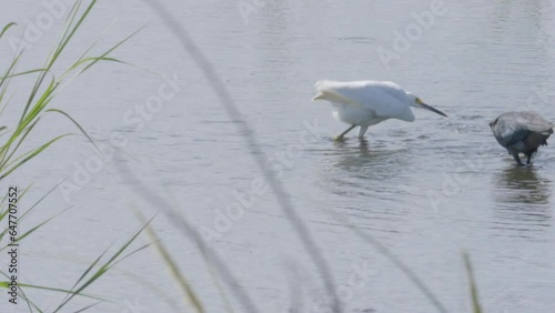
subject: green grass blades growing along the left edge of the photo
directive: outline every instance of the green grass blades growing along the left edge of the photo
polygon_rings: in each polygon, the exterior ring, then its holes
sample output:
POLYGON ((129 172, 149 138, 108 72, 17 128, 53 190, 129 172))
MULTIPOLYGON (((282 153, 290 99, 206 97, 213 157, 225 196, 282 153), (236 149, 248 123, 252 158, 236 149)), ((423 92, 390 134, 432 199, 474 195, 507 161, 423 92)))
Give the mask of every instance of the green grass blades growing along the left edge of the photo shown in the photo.
MULTIPOLYGON (((24 165, 27 162, 39 158, 40 154, 49 149, 53 143, 60 141, 67 135, 70 135, 59 134, 40 144, 39 147, 36 147, 28 151, 21 151, 23 143, 29 141, 29 139, 34 133, 33 131, 37 124, 47 113, 61 114, 64 118, 69 119, 81 132, 81 134, 85 135, 91 144, 97 147, 94 144, 94 141, 87 134, 83 128, 73 118, 71 118, 70 114, 62 110, 50 108, 56 99, 56 95, 63 89, 63 87, 65 87, 73 79, 80 77, 98 62, 108 61, 124 63, 118 59, 110 57, 109 54, 113 52, 118 47, 123 44, 127 40, 129 40, 134 33, 121 40, 110 49, 105 50, 102 54, 91 57, 89 55, 89 52, 97 43, 93 42, 77 60, 73 61, 73 63, 71 63, 71 65, 68 67, 64 72, 62 72, 58 77, 53 73, 52 69, 54 64, 57 64, 64 50, 71 44, 71 40, 75 37, 75 33, 78 33, 83 22, 88 19, 89 13, 93 9, 95 2, 95 0, 90 1, 88 6, 83 6, 82 1, 75 2, 65 20, 67 27, 59 42, 56 44, 53 52, 47 57, 44 67, 39 69, 18 71, 18 65, 24 60, 24 50, 20 50, 14 54, 11 61, 6 64, 4 72, 0 74, 0 117, 7 105, 13 105, 12 103, 10 103, 13 92, 11 83, 22 77, 36 77, 34 84, 28 92, 27 101, 21 108, 20 118, 12 125, 0 125, 0 181, 6 182, 7 178, 12 175, 19 168, 24 165)), ((17 27, 16 23, 8 23, 7 26, 4 26, 0 31, 0 40, 2 40, 3 36, 11 31, 11 29, 14 27, 17 27)), ((31 235, 34 232, 39 231, 44 224, 49 223, 52 219, 56 218, 52 216, 30 228, 24 224, 24 221, 27 220, 29 214, 32 213, 33 210, 39 208, 40 203, 48 195, 50 195, 50 193, 57 186, 54 186, 52 190, 50 190, 50 192, 40 198, 26 211, 20 211, 18 215, 13 214, 13 212, 18 210, 17 203, 28 195, 31 188, 32 186, 28 186, 24 189, 19 188, 17 198, 13 198, 10 194, 6 194, 0 199, 0 225, 2 225, 0 228, 0 252, 2 252, 2 255, 8 249, 11 249, 10 251, 13 251, 16 249, 13 246, 18 246, 21 242, 30 240, 29 238, 32 238, 31 235)), ((23 208, 19 209, 22 210, 23 208)), ((21 275, 17 275, 17 271, 13 271, 13 267, 11 270, 0 269, 0 289, 6 289, 8 290, 8 292, 14 292, 17 297, 13 297, 12 304, 16 304, 17 299, 17 301, 19 301, 17 305, 26 305, 29 312, 42 312, 39 305, 34 303, 30 296, 28 296, 27 291, 31 289, 65 294, 65 297, 61 301, 61 303, 59 303, 53 312, 59 312, 60 310, 65 307, 65 305, 69 302, 73 301, 75 296, 97 300, 97 302, 94 302, 93 304, 83 306, 79 312, 91 309, 103 300, 98 296, 85 294, 85 290, 92 283, 102 277, 119 262, 148 246, 143 245, 134 250, 130 249, 131 244, 144 230, 148 223, 149 222, 145 222, 143 228, 138 230, 131 239, 127 240, 119 249, 115 249, 114 252, 110 253, 110 255, 108 254, 109 249, 101 253, 95 260, 92 261, 92 263, 87 269, 84 269, 82 275, 74 282, 74 284, 68 289, 28 284, 22 281, 23 277, 21 275)), ((4 294, 4 292, 2 292, 2 294, 4 294)))

